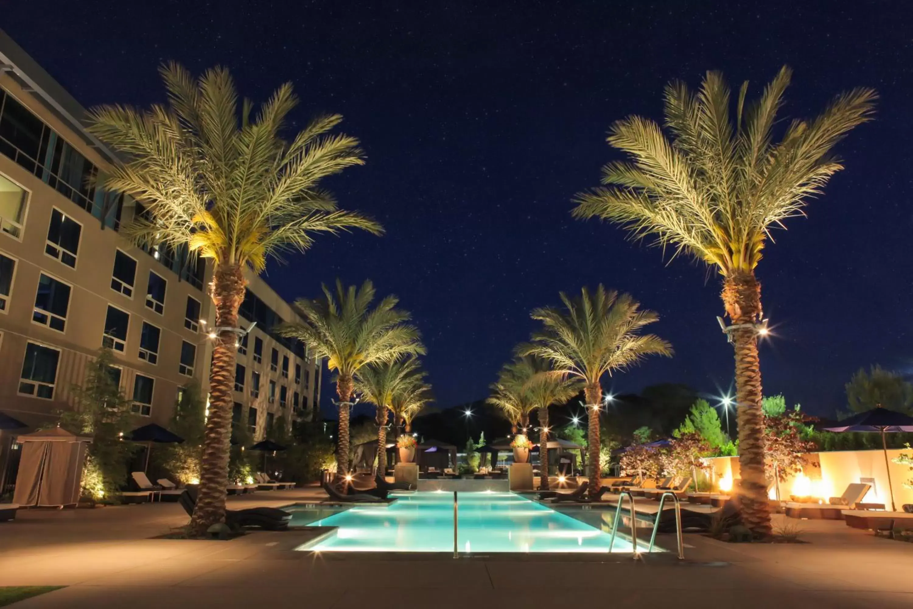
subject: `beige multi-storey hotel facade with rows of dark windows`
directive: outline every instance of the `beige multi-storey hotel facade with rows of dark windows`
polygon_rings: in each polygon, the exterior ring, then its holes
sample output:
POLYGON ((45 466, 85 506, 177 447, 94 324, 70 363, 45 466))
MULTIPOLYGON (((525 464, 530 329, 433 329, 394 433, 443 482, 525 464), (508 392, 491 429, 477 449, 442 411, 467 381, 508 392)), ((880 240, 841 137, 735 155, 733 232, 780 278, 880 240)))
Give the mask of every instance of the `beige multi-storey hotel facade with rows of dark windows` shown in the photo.
MULTIPOLYGON (((101 187, 113 157, 84 115, 0 31, 0 411, 29 427, 52 422, 104 346, 138 419, 167 425, 180 389, 208 382, 211 268, 119 234, 138 204, 101 187)), ((311 418, 320 362, 275 333, 297 317, 248 279, 241 316, 256 325, 239 342, 235 417, 260 439, 280 417, 311 418)))

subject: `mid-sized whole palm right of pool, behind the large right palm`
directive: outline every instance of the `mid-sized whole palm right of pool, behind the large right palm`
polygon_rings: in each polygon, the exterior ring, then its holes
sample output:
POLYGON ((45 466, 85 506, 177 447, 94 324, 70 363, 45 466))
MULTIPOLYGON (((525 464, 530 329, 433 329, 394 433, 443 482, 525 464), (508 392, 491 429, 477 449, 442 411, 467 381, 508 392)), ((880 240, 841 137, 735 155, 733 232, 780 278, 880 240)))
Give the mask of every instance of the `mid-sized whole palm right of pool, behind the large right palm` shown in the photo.
POLYGON ((640 334, 658 320, 652 310, 641 310, 629 294, 618 295, 600 285, 592 293, 583 288, 578 298, 561 292, 563 309, 545 307, 532 311, 544 326, 530 344, 518 352, 550 362, 557 373, 580 379, 589 415, 587 430, 590 492, 599 492, 599 410, 603 402, 603 374, 629 368, 647 355, 671 355, 672 346, 654 334, 640 334))

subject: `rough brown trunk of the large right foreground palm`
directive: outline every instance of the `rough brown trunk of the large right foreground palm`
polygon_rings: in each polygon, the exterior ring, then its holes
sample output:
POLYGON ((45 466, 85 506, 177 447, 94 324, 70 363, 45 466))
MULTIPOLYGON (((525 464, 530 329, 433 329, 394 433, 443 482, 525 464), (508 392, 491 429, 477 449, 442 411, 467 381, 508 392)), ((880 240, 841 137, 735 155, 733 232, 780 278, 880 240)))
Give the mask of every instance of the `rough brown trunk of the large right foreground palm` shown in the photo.
MULTIPOLYGON (((761 284, 753 273, 735 273, 725 279, 723 305, 732 325, 761 320, 761 284)), ((736 396, 739 422, 739 496, 745 526, 756 536, 771 534, 771 505, 764 478, 764 422, 761 416, 761 362, 754 328, 731 331, 736 356, 736 396)))

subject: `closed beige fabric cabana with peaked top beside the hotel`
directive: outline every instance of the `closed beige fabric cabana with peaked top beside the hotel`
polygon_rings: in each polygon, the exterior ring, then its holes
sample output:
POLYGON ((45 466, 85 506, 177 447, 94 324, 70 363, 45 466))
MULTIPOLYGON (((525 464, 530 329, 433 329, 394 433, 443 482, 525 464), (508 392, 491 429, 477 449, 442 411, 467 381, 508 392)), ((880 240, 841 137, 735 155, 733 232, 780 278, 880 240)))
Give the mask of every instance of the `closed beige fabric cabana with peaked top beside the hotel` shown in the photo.
POLYGON ((91 438, 55 427, 16 438, 22 445, 14 503, 63 507, 79 503, 82 467, 91 438))

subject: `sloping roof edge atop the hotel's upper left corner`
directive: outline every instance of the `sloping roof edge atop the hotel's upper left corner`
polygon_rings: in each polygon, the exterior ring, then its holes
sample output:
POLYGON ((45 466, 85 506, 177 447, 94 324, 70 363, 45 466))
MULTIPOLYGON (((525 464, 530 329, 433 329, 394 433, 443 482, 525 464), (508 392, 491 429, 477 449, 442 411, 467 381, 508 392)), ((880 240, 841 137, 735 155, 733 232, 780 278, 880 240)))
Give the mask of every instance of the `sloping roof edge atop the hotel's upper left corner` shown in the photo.
POLYGON ((22 81, 23 88, 27 92, 35 94, 38 99, 47 104, 49 110, 58 115, 58 118, 64 121, 69 128, 76 131, 79 137, 99 152, 106 161, 114 162, 117 158, 116 155, 87 131, 83 121, 89 112, 2 29, 0 29, 0 72, 15 75, 22 81))

